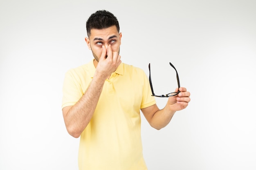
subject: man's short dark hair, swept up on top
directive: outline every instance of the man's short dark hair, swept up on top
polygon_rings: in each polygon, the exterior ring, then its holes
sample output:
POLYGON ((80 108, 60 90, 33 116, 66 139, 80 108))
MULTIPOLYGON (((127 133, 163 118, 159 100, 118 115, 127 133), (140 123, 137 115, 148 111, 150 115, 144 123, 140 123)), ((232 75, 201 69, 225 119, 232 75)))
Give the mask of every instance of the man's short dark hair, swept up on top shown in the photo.
POLYGON ((119 32, 119 23, 115 15, 106 10, 99 10, 93 13, 86 22, 86 31, 88 37, 91 35, 91 29, 105 29, 115 25, 119 32))

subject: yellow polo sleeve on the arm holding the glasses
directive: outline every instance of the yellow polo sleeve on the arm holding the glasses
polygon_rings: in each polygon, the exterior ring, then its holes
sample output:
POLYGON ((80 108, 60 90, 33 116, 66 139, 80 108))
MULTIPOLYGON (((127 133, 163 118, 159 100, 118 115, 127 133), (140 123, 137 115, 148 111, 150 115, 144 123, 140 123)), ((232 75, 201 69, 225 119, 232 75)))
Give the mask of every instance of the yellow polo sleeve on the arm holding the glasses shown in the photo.
POLYGON ((143 96, 142 96, 142 102, 140 108, 147 108, 149 106, 152 106, 156 104, 155 97, 152 96, 150 84, 148 81, 148 77, 146 76, 146 73, 143 72, 143 79, 144 79, 144 88, 143 88, 143 96))

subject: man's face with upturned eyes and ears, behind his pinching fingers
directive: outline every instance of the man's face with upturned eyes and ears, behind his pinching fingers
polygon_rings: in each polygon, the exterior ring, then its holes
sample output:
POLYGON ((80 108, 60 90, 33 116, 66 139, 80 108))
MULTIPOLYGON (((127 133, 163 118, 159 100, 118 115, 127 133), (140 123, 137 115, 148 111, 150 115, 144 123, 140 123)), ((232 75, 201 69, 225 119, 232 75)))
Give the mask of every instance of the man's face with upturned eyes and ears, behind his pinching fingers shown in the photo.
MULTIPOLYGON (((89 38, 85 38, 88 48, 92 50, 92 55, 95 60, 99 62, 101 57, 102 46, 108 49, 108 45, 111 44, 112 51, 120 51, 122 33, 118 33, 117 27, 110 26, 106 29, 91 29, 91 35, 89 38)), ((108 52, 107 54, 108 55, 108 52)))

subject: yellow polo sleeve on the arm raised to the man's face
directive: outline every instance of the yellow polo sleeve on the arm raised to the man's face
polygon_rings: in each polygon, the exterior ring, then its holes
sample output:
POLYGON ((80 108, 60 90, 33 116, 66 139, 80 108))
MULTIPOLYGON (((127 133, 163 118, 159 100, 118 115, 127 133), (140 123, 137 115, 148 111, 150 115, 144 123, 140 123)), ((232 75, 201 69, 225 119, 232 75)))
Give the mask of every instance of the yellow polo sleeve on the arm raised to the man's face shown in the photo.
POLYGON ((72 70, 67 71, 63 82, 62 108, 74 106, 83 95, 83 91, 77 83, 76 76, 72 70))

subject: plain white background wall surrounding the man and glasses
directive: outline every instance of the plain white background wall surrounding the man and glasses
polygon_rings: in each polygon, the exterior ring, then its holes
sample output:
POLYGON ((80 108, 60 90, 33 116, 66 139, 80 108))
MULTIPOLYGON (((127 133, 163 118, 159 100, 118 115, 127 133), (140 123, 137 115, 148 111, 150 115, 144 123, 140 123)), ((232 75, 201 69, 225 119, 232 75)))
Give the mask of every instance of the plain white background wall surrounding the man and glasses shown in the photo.
POLYGON ((148 169, 255 170, 255 0, 0 0, 0 169, 78 169, 62 85, 92 60, 85 22, 99 9, 119 20, 122 62, 151 63, 156 94, 177 86, 168 62, 191 92, 162 130, 142 116, 148 169))

